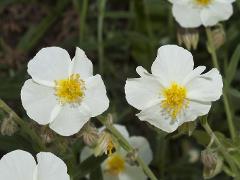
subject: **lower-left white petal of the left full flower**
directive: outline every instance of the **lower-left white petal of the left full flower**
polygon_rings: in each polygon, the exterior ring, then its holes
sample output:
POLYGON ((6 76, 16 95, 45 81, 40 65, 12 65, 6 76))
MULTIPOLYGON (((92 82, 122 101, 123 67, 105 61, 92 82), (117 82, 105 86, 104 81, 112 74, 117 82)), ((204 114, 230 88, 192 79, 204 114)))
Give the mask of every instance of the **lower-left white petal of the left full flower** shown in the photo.
POLYGON ((39 85, 32 79, 27 80, 21 90, 21 100, 28 116, 41 125, 48 124, 51 112, 58 103, 54 93, 53 88, 39 85))

